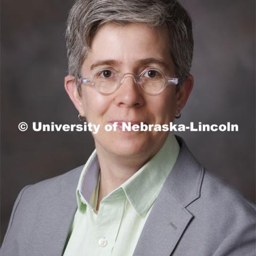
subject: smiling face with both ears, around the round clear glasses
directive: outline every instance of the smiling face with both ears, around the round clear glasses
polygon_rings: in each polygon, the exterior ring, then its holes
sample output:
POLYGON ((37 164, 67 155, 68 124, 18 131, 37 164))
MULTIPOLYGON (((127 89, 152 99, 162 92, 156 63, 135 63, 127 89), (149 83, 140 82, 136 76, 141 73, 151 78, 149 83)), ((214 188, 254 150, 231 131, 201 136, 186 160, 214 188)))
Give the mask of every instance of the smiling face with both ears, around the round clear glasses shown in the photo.
MULTIPOLYGON (((164 29, 151 28, 142 23, 128 25, 109 24, 95 34, 89 54, 85 59, 81 75, 92 77, 99 69, 110 68, 117 73, 134 73, 155 68, 166 77, 177 77, 169 54, 169 39, 164 29)), ((148 159, 163 145, 166 132, 107 132, 106 124, 132 122, 146 124, 169 124, 174 115, 185 105, 193 86, 188 77, 177 92, 175 85, 167 85, 157 95, 148 95, 127 76, 118 90, 102 95, 91 84, 81 85, 78 94, 74 77, 65 78, 66 90, 77 110, 86 121, 100 124, 93 134, 98 153, 105 156, 148 159)))

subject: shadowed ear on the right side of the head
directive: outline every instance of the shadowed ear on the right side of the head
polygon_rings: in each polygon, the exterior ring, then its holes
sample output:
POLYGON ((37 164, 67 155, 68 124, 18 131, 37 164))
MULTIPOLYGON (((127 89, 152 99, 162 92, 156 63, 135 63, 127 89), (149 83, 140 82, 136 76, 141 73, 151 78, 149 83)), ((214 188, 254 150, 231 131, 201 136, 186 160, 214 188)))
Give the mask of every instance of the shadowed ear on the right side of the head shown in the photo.
POLYGON ((180 89, 177 92, 177 109, 175 115, 180 113, 180 110, 186 105, 189 94, 194 86, 194 78, 188 75, 180 85, 180 89))

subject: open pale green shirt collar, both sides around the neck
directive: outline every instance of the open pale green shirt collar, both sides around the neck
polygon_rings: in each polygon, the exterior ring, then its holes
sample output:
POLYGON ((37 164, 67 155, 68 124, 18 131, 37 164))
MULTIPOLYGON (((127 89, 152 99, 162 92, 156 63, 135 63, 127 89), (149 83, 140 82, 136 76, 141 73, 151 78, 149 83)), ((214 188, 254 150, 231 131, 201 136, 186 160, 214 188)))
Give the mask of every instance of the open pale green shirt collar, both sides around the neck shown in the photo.
MULTIPOLYGON (((137 214, 140 216, 146 214, 171 172, 179 150, 179 143, 174 134, 170 132, 158 153, 114 191, 122 188, 137 214)), ((99 171, 98 156, 94 150, 83 168, 77 186, 77 203, 81 212, 85 211, 86 205, 93 210, 89 202, 95 187, 97 187, 99 171)))

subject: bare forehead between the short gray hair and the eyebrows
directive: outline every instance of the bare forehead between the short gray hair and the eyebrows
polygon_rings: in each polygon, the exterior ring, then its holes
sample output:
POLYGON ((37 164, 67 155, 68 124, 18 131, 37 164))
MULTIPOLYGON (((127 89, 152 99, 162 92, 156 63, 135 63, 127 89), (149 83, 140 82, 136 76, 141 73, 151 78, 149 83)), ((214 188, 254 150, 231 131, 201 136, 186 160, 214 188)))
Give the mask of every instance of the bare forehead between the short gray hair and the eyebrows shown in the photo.
POLYGON ((102 26, 94 35, 83 66, 102 60, 115 60, 119 66, 138 65, 143 59, 157 59, 171 64, 169 38, 164 28, 144 23, 114 23, 102 26))

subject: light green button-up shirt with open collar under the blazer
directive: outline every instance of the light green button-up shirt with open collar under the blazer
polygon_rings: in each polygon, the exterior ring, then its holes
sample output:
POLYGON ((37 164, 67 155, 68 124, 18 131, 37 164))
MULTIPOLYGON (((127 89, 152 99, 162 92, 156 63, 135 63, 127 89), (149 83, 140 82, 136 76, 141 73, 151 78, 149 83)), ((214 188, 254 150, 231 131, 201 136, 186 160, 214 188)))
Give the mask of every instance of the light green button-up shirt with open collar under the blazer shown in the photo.
POLYGON ((86 162, 77 186, 73 225, 64 256, 131 256, 159 191, 179 155, 169 133, 158 153, 120 187, 98 198, 100 166, 96 150, 86 162))

